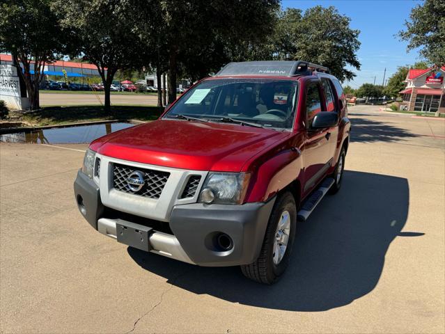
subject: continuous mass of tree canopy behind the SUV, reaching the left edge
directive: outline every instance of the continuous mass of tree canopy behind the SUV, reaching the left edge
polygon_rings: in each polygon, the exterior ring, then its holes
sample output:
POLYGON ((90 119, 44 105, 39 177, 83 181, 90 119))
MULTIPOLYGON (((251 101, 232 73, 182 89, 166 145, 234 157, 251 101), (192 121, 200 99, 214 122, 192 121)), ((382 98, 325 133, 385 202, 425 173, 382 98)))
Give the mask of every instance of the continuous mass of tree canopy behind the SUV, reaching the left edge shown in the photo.
POLYGON ((158 86, 168 72, 169 103, 178 76, 196 81, 230 61, 305 60, 329 67, 341 81, 352 79, 360 42, 350 19, 334 7, 302 12, 281 10, 280 2, 1 0, 0 48, 17 54, 30 78, 31 60, 41 65, 68 54, 95 64, 106 110, 118 70, 156 70, 158 86))

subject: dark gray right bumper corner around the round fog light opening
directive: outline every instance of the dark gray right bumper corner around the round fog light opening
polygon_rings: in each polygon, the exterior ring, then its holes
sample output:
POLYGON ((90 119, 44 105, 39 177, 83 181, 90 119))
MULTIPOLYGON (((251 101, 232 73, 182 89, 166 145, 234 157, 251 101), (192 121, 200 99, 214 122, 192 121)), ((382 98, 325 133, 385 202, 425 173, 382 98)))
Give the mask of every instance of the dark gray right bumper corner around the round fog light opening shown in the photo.
POLYGON ((176 205, 170 228, 185 253, 200 266, 227 267, 249 264, 260 254, 275 198, 244 205, 176 205), (233 248, 219 251, 212 241, 219 233, 228 234, 233 248))

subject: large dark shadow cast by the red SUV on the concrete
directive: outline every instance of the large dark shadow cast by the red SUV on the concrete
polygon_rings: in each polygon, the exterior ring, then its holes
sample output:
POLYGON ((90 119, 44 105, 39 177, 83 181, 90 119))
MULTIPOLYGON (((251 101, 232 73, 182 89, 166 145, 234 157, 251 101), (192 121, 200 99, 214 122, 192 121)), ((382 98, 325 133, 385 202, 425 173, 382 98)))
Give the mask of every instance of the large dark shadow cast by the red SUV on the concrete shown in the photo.
POLYGON ((197 267, 135 248, 128 253, 144 269, 196 294, 260 308, 329 310, 374 289, 408 206, 406 179, 345 170, 336 196, 324 198, 309 220, 299 223, 290 266, 272 286, 244 278, 238 267, 197 267))

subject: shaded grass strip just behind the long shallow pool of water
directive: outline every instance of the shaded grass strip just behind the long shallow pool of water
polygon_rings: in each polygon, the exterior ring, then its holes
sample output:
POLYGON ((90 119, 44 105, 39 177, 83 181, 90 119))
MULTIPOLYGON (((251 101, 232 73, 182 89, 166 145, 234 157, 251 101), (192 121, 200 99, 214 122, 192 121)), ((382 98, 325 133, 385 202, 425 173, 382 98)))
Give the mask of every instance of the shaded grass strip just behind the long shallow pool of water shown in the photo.
POLYGON ((164 108, 157 106, 111 106, 111 114, 103 106, 47 106, 22 114, 22 121, 35 126, 67 125, 98 120, 155 120, 164 108))

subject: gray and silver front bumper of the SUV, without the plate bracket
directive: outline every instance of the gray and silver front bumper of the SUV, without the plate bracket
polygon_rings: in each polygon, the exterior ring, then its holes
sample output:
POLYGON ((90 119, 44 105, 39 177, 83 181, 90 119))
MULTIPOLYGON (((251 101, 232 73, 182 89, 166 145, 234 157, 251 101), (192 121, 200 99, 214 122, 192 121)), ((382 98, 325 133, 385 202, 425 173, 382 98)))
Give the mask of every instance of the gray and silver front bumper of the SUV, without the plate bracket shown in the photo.
MULTIPOLYGON (((95 182, 79 170, 74 189, 79 211, 88 223, 117 239, 116 223, 122 221, 104 216, 100 189, 95 182)), ((150 252, 208 267, 249 264, 260 253, 274 201, 275 198, 244 205, 175 205, 169 219, 173 234, 150 230, 150 252), (221 250, 215 244, 221 233, 233 241, 231 249, 221 250)))

